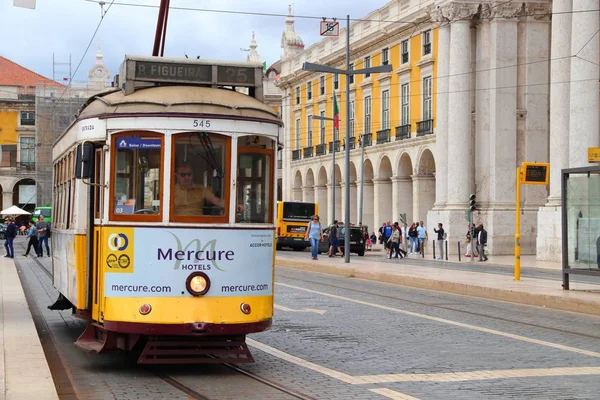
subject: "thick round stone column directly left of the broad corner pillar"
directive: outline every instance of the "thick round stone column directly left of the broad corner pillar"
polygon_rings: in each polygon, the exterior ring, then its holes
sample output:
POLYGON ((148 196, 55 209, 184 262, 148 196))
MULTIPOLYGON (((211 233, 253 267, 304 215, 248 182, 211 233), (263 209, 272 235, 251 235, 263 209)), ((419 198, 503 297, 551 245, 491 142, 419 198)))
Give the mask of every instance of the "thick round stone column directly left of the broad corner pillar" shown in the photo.
MULTIPOLYGON (((472 191, 473 170, 471 160, 471 21, 479 9, 478 4, 448 6, 450 25, 450 67, 448 84, 448 185, 447 206, 463 208, 472 191)), ((415 214, 417 216, 419 214, 415 214)), ((425 215, 421 216, 425 218, 425 215)))

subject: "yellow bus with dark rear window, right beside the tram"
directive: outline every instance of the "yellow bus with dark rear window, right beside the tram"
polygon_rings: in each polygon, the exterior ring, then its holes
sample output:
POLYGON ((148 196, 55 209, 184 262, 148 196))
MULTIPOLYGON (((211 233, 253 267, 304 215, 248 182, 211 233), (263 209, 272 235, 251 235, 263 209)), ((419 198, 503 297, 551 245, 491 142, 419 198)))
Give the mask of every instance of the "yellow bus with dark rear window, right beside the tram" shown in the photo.
POLYGON ((316 203, 301 201, 277 202, 277 250, 291 247, 303 251, 310 247, 310 242, 304 240, 306 227, 310 218, 319 213, 316 203))

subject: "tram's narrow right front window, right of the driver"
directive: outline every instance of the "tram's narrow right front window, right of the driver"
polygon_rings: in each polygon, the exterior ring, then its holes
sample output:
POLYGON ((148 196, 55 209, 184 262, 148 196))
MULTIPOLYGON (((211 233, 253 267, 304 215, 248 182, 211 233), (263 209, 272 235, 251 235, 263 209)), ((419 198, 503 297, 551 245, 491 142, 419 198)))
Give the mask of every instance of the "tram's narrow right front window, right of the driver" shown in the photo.
POLYGON ((266 137, 238 139, 236 222, 273 222, 274 148, 266 137))

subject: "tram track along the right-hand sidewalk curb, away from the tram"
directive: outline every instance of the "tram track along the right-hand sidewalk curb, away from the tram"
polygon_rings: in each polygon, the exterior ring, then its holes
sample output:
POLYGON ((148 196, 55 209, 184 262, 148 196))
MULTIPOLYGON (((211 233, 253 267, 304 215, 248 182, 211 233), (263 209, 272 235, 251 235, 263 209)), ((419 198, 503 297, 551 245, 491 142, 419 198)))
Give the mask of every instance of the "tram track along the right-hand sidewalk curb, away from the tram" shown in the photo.
MULTIPOLYGON (((532 328, 547 329, 547 330, 550 330, 550 331, 559 332, 559 333, 563 333, 563 334, 580 336, 580 337, 584 337, 584 338, 587 338, 587 339, 600 340, 600 336, 597 336, 597 335, 589 335, 589 334, 585 334, 585 333, 581 333, 581 332, 573 332, 573 331, 568 331, 568 330, 565 330, 565 329, 555 328, 555 327, 551 327, 551 326, 539 325, 539 324, 535 324, 535 323, 531 323, 531 322, 518 321, 518 320, 515 320, 515 319, 511 319, 511 318, 499 317, 499 316, 490 315, 490 314, 487 314, 487 313, 481 313, 481 312, 475 312, 475 311, 466 311, 466 310, 461 310, 461 309, 458 309, 458 308, 449 307, 449 306, 443 306, 443 305, 439 305, 439 304, 432 304, 432 303, 421 302, 421 301, 416 301, 416 300, 409 300, 409 299, 405 299, 405 298, 401 298, 401 297, 397 297, 397 296, 384 295, 384 294, 377 293, 377 292, 374 292, 374 291, 365 291, 365 290, 353 289, 353 288, 345 287, 345 286, 338 286, 338 285, 323 283, 321 281, 316 281, 316 280, 312 281, 312 280, 309 280, 309 279, 300 279, 300 278, 295 278, 295 277, 290 277, 290 276, 284 276, 284 278, 285 279, 290 279, 290 280, 293 280, 293 281, 309 283, 311 285, 318 284, 318 285, 329 287, 329 288, 333 288, 333 289, 343 289, 343 290, 348 290, 350 292, 365 294, 365 295, 369 295, 369 296, 380 297, 380 298, 383 298, 383 299, 396 300, 396 301, 401 301, 401 302, 405 302, 405 303, 409 303, 409 304, 414 304, 414 305, 419 305, 419 306, 433 307, 433 308, 438 308, 440 310, 453 311, 453 312, 457 312, 457 313, 461 313, 461 314, 465 314, 465 315, 470 315, 470 316, 473 316, 473 317, 489 318, 489 319, 493 319, 493 320, 497 320, 497 321, 509 322, 509 323, 514 323, 514 324, 518 324, 518 325, 522 325, 522 326, 532 327, 532 328)), ((379 283, 381 283, 381 282, 379 282, 379 283)), ((388 285, 388 284, 386 284, 386 285, 388 285)), ((277 283, 275 283, 275 286, 277 286, 277 283)), ((400 285, 397 285, 397 286, 400 286, 400 285)), ((411 289, 414 289, 414 288, 411 288, 411 289)), ((447 293, 444 293, 444 294, 447 294, 447 293)))

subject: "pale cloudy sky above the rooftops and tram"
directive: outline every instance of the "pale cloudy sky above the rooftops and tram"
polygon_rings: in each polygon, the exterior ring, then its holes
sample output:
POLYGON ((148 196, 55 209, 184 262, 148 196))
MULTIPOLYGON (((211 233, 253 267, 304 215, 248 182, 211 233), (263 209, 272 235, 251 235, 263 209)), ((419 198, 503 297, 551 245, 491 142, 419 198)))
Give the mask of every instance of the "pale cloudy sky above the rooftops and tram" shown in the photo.
MULTIPOLYGON (((96 0, 94 0, 96 1, 96 0)), ((107 10, 112 0, 104 0, 107 10)), ((225 11, 249 11, 287 14, 293 4, 294 15, 361 18, 382 7, 388 0, 171 0, 171 7, 202 8, 225 11)), ((0 56, 46 77, 53 76, 56 62, 69 62, 74 81, 87 80, 94 65, 97 46, 104 64, 114 76, 126 54, 152 55, 158 8, 119 5, 158 6, 160 0, 115 0, 85 53, 101 20, 98 3, 86 0, 37 0, 36 9, 13 6, 13 0, 0 0, 0 56), (85 56, 84 56, 85 54, 85 56)), ((257 51, 270 65, 281 58, 281 34, 285 17, 236 15, 206 11, 171 9, 167 28, 165 56, 245 61, 241 49, 247 49, 256 32, 257 51)), ((342 27, 344 23, 342 23, 342 27)), ((319 20, 296 18, 296 31, 308 47, 320 40, 319 20)), ((68 67, 57 67, 57 80, 68 76, 68 67)))

